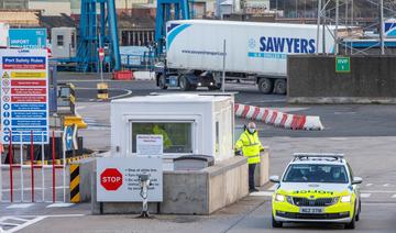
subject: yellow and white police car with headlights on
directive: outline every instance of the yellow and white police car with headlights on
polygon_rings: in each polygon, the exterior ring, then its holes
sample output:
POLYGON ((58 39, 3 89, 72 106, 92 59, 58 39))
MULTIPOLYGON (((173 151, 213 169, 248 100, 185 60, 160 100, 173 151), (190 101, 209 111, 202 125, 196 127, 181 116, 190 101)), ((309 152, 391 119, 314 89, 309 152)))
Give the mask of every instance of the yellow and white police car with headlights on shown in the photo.
POLYGON ((359 184, 342 154, 297 153, 272 198, 272 225, 284 222, 333 222, 354 229, 361 212, 359 184))

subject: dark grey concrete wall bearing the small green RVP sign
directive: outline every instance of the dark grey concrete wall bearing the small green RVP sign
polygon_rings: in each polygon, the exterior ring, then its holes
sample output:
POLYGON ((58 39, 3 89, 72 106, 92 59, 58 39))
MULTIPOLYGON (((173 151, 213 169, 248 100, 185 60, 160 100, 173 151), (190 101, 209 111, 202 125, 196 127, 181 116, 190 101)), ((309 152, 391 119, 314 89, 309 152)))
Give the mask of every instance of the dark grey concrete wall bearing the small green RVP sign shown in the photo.
POLYGON ((334 56, 292 55, 287 59, 293 103, 395 103, 396 56, 352 56, 351 73, 336 73, 334 56))

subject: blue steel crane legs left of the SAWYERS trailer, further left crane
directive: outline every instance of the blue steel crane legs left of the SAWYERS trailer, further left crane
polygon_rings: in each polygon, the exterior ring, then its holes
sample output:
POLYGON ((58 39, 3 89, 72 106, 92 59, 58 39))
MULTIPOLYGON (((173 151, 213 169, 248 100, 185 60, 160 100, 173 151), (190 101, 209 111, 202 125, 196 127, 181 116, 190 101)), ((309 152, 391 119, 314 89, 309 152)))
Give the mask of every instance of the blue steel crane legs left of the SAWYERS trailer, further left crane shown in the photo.
POLYGON ((121 57, 114 0, 81 0, 77 71, 98 71, 98 48, 106 48, 105 69, 120 70, 121 57), (98 12, 100 12, 98 16, 98 12))

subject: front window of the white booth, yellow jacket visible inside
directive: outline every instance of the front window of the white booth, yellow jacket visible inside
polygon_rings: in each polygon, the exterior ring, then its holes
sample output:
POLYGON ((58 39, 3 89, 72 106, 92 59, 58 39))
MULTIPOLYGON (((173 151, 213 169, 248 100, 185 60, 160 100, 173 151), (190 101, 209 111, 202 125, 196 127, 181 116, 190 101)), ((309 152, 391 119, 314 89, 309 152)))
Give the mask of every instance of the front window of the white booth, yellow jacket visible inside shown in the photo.
POLYGON ((164 153, 193 153, 191 123, 132 122, 132 153, 136 153, 138 134, 161 134, 164 153))

